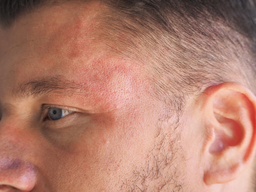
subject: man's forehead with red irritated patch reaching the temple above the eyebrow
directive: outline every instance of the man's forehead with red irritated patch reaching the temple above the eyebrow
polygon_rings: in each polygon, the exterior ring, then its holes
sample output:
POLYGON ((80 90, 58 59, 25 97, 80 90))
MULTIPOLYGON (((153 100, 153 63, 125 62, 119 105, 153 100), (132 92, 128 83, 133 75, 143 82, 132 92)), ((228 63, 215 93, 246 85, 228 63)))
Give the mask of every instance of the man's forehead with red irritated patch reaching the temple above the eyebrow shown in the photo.
POLYGON ((135 79, 141 71, 104 51, 105 45, 97 38, 98 16, 103 9, 95 2, 45 7, 18 19, 10 29, 2 29, 2 95, 15 92, 22 83, 56 75, 83 85, 83 90, 90 89, 94 98, 99 90, 109 92, 111 98, 114 92, 121 97, 120 90, 132 92, 131 87, 140 84, 135 79))

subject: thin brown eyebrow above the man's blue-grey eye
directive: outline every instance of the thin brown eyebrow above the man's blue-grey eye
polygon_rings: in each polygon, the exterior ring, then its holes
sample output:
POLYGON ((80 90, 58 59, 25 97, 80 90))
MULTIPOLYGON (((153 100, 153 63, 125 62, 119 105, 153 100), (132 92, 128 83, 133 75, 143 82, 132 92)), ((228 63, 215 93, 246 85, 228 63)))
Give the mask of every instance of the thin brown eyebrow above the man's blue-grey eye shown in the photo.
POLYGON ((45 76, 29 82, 21 83, 18 89, 13 89, 13 94, 18 98, 38 97, 43 94, 58 94, 71 96, 73 94, 88 95, 89 91, 82 84, 67 80, 64 76, 45 76))

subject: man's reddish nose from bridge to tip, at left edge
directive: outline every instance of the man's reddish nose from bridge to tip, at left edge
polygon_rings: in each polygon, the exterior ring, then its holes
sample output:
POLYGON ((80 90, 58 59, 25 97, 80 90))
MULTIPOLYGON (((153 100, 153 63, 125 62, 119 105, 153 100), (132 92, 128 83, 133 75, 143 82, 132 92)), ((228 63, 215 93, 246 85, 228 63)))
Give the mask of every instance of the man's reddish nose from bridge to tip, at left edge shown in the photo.
POLYGON ((26 129, 19 128, 17 121, 0 121, 0 191, 31 191, 36 183, 36 168, 30 161, 32 144, 26 129))

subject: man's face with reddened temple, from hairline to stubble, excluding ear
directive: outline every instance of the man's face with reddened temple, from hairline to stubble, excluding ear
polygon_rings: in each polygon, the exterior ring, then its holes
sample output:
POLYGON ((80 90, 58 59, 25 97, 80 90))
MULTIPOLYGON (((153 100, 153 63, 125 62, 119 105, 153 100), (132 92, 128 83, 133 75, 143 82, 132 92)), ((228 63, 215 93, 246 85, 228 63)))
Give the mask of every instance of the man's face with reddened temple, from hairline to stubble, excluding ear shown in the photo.
POLYGON ((157 191, 182 184, 182 155, 174 158, 169 144, 176 146, 177 136, 161 121, 146 70, 111 56, 97 40, 101 9, 63 4, 0 31, 2 189, 157 191))

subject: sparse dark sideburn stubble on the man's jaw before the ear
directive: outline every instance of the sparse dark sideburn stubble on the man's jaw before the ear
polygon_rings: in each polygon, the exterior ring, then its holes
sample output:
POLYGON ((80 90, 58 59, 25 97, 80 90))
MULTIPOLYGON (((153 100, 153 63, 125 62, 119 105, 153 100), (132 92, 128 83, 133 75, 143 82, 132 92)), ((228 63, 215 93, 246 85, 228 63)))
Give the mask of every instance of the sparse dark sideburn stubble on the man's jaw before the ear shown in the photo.
POLYGON ((123 181, 122 192, 181 192, 185 157, 180 145, 179 121, 166 127, 166 120, 157 123, 158 134, 153 149, 142 166, 136 166, 133 177, 123 181), (167 130, 167 131, 166 131, 167 130))

